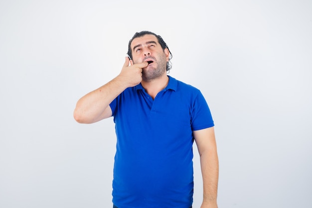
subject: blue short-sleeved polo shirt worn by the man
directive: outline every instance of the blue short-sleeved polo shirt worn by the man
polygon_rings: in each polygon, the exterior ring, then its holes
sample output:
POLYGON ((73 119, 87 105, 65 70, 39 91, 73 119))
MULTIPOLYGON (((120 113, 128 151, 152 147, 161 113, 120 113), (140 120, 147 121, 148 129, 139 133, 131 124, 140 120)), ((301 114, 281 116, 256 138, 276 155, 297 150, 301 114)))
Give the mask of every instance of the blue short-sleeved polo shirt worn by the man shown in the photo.
POLYGON ((214 124, 201 92, 168 77, 154 100, 139 84, 110 104, 117 135, 113 203, 118 208, 192 205, 192 131, 214 124))

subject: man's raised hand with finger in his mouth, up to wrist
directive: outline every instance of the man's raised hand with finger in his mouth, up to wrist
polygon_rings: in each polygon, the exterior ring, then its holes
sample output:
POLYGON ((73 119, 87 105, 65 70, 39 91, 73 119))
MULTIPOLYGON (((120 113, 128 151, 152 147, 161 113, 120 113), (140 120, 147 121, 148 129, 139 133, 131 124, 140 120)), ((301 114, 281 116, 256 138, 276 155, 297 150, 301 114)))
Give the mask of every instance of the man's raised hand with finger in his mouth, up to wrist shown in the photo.
POLYGON ((125 63, 123 68, 118 75, 118 78, 122 80, 127 87, 134 87, 141 83, 142 81, 142 68, 145 68, 149 65, 148 62, 142 62, 133 64, 133 61, 128 57, 125 58, 125 63), (130 65, 129 65, 130 63, 130 65))

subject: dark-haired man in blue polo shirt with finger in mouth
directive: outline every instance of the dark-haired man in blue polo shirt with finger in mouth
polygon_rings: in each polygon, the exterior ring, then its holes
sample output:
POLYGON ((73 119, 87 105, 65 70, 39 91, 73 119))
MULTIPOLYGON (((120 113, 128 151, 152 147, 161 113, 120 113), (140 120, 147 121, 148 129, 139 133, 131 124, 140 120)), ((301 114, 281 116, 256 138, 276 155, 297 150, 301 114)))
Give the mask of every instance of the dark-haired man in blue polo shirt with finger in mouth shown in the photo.
POLYGON ((129 41, 120 74, 83 96, 74 118, 94 123, 114 116, 116 208, 190 208, 195 140, 203 178, 201 208, 217 208, 218 156, 214 124, 200 91, 170 76, 171 53, 153 32, 129 41))

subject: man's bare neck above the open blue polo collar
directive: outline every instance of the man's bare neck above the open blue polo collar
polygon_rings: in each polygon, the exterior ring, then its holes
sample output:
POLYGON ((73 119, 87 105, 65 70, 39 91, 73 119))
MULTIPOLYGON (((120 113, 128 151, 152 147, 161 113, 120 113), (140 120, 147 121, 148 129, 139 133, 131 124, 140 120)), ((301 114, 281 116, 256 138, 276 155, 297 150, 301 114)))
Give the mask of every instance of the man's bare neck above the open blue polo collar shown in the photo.
POLYGON ((145 91, 153 99, 155 99, 158 92, 163 90, 167 86, 168 82, 169 82, 169 77, 165 73, 163 76, 161 76, 157 79, 153 79, 153 80, 149 80, 149 81, 142 80, 141 84, 142 84, 143 88, 145 89, 145 91))

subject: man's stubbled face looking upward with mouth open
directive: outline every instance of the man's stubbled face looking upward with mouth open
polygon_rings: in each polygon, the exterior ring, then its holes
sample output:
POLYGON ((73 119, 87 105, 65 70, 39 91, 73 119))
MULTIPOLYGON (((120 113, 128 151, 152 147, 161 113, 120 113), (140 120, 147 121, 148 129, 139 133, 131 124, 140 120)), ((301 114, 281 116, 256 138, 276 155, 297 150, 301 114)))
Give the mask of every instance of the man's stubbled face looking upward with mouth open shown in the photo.
POLYGON ((156 79, 166 72, 167 61, 169 61, 168 49, 162 49, 155 35, 146 34, 133 39, 131 43, 133 63, 153 61, 142 69, 144 81, 156 79))

